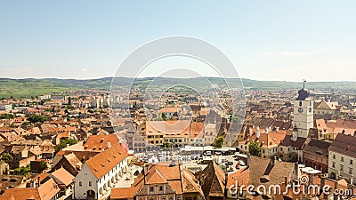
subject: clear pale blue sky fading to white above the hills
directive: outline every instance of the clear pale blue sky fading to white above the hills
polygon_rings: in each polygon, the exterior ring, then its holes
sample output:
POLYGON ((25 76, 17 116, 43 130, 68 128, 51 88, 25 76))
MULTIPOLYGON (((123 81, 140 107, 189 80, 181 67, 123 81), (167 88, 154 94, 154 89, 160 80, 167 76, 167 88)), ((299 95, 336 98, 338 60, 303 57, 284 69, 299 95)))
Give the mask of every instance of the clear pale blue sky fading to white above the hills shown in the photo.
MULTIPOLYGON (((356 81, 355 8, 352 0, 1 0, 0 77, 115 76, 142 44, 192 36, 223 51, 239 77, 356 81)), ((149 67, 138 76, 171 68, 215 76, 205 63, 186 58, 149 67)))

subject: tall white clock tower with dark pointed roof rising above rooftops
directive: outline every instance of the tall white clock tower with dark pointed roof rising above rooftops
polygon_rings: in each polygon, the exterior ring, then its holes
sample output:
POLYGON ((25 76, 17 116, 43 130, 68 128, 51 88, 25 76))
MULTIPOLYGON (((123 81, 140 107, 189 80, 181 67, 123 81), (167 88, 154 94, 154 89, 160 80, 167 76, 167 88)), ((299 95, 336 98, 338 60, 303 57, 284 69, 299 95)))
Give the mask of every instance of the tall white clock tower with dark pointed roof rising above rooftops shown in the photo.
POLYGON ((293 135, 291 140, 295 141, 298 138, 307 138, 309 129, 313 127, 313 100, 308 98, 309 92, 305 89, 305 80, 303 88, 298 91, 298 97, 294 101, 294 120, 293 120, 293 135))

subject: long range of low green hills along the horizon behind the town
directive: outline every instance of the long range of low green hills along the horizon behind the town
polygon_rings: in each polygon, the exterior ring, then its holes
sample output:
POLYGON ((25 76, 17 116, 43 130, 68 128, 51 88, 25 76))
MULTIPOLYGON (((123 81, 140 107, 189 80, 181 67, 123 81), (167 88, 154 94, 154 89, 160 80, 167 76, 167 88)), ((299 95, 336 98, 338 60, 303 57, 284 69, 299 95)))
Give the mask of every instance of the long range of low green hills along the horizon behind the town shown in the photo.
MULTIPOLYGON (((165 84, 189 84, 198 88, 209 88, 210 84, 223 85, 224 80, 218 77, 198 77, 198 78, 167 78, 167 77, 147 77, 138 78, 135 80, 135 85, 147 86, 163 86, 165 84), (154 80, 154 81, 152 81, 154 80)), ((250 79, 241 79, 244 87, 248 90, 275 90, 275 89, 298 89, 301 88, 301 83, 285 82, 285 81, 255 81, 250 79)), ((114 84, 118 86, 131 85, 131 79, 126 77, 117 77, 114 79, 114 84)), ((228 78, 226 81, 230 87, 235 88, 240 85, 238 79, 228 78)), ((99 79, 9 79, 0 78, 0 99, 2 98, 29 98, 43 94, 55 92, 68 92, 77 89, 98 89, 109 91, 109 86, 112 82, 112 77, 104 77, 99 79)), ((308 82, 307 88, 328 90, 328 91, 356 91, 356 82, 308 82)))

